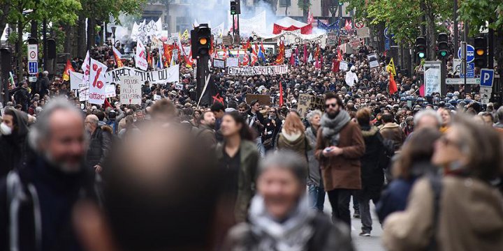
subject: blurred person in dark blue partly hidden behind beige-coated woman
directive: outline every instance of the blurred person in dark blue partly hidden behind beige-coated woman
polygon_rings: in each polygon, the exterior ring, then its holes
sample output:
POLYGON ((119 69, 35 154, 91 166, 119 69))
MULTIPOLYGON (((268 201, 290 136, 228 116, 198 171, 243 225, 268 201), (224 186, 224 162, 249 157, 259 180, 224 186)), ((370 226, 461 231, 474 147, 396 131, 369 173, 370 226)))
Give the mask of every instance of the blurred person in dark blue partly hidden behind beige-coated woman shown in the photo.
POLYGON ((431 157, 433 144, 440 136, 441 133, 437 130, 423 128, 404 145, 393 166, 394 179, 382 192, 376 205, 381 222, 384 222, 389 214, 405 210, 410 190, 418 178, 437 172, 437 167, 431 163, 431 157))

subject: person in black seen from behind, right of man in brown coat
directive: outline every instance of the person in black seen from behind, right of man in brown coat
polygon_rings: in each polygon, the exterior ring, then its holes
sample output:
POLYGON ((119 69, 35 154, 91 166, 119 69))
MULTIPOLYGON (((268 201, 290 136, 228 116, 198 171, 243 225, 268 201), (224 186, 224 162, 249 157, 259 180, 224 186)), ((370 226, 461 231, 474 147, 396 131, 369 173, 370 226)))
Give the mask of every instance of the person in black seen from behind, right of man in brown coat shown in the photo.
POLYGON ((356 119, 365 141, 365 154, 360 158, 362 185, 361 190, 356 191, 362 222, 360 236, 370 236, 372 231, 370 200, 374 205, 377 204, 384 184, 384 172, 379 165, 379 159, 384 155, 383 137, 379 134, 379 128, 370 126, 370 114, 372 111, 368 108, 356 112, 356 119))

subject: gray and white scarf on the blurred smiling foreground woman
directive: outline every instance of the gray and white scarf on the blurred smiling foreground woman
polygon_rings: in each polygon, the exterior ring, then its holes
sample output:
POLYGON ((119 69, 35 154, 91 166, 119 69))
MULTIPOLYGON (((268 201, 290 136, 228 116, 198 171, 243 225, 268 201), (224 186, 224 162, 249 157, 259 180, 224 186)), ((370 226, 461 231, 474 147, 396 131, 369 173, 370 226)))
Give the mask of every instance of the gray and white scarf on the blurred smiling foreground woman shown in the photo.
POLYGON ((258 250, 305 250, 309 239, 314 234, 314 229, 308 222, 315 215, 316 212, 309 209, 307 196, 304 195, 286 220, 278 222, 268 213, 263 197, 256 195, 251 200, 249 220, 252 226, 251 231, 260 240, 258 250))

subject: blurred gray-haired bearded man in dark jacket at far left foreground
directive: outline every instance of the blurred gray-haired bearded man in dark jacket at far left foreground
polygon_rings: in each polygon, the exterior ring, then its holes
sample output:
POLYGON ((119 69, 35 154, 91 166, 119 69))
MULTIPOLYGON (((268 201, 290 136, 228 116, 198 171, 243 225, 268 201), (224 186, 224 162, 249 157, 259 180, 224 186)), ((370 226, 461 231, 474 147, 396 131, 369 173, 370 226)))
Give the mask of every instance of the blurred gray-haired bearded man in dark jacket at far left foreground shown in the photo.
POLYGON ((85 129, 70 102, 48 103, 28 134, 34 155, 27 167, 0 181, 1 250, 80 250, 71 222, 73 205, 94 198, 83 165, 85 129))

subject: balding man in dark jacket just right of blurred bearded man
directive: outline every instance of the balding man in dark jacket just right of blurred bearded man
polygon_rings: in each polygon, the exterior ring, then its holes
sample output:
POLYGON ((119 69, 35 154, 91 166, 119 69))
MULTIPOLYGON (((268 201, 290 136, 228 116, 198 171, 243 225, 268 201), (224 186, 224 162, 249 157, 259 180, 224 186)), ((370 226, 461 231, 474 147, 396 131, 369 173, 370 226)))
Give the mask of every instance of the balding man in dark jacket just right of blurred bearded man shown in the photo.
POLYGON ((112 145, 112 134, 98 126, 98 117, 94 114, 87 115, 84 121, 85 130, 89 133, 89 146, 86 151, 87 167, 96 173, 103 170, 103 162, 112 145))

